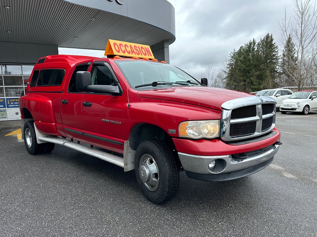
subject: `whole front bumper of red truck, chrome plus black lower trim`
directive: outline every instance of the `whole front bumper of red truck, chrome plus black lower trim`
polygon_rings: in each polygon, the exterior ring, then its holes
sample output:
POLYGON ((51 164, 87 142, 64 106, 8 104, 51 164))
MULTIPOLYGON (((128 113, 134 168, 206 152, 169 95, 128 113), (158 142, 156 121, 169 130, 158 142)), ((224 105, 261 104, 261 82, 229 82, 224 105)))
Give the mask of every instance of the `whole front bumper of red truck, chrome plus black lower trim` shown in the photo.
POLYGON ((239 155, 201 156, 178 152, 179 159, 188 177, 206 181, 224 181, 237 179, 267 167, 277 153, 279 145, 270 145, 266 148, 239 155), (247 158, 245 158, 247 156, 247 158), (216 166, 209 169, 211 161, 216 160, 216 166))

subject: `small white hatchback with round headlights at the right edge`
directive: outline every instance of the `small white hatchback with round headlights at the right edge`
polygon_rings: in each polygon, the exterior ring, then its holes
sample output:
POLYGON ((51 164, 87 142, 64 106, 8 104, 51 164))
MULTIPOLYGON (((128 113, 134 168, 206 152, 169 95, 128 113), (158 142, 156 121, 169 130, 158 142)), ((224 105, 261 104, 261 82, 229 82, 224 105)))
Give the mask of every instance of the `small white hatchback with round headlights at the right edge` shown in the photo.
POLYGON ((301 112, 307 114, 309 111, 317 111, 317 91, 306 90, 292 94, 283 100, 280 106, 281 113, 301 112))

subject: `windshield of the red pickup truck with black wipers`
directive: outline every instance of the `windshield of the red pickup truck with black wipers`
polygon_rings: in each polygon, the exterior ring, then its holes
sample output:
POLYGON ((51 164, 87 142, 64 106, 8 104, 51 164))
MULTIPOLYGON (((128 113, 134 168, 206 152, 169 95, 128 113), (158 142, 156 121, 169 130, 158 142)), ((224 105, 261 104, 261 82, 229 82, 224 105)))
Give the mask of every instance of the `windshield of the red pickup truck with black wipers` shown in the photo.
POLYGON ((115 63, 130 86, 134 88, 149 89, 149 87, 200 85, 194 78, 170 64, 141 60, 118 60, 115 63))

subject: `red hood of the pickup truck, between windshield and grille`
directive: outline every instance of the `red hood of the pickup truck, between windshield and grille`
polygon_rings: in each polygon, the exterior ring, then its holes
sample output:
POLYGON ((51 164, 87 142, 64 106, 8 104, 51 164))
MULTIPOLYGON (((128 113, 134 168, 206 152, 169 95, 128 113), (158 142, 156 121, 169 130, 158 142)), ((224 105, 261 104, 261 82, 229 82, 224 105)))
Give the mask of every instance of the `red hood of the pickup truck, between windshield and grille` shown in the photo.
POLYGON ((240 91, 200 86, 144 90, 138 91, 138 95, 142 98, 174 101, 207 107, 219 111, 222 111, 221 105, 228 100, 233 100, 246 96, 255 96, 253 94, 240 91))

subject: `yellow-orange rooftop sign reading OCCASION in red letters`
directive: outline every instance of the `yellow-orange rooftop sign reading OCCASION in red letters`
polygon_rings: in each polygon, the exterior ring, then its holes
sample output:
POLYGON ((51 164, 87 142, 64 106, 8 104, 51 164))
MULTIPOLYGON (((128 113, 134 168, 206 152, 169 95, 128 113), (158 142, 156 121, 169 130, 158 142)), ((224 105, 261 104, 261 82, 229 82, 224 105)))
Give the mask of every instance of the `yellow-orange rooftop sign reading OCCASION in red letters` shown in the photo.
POLYGON ((105 55, 138 57, 153 59, 153 53, 148 45, 133 44, 119 40, 108 40, 105 55))

